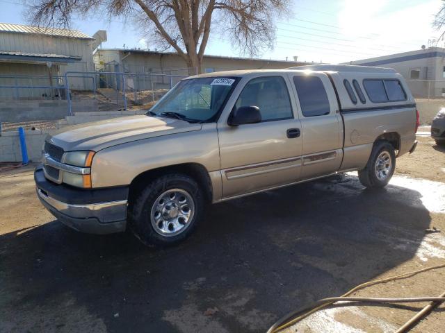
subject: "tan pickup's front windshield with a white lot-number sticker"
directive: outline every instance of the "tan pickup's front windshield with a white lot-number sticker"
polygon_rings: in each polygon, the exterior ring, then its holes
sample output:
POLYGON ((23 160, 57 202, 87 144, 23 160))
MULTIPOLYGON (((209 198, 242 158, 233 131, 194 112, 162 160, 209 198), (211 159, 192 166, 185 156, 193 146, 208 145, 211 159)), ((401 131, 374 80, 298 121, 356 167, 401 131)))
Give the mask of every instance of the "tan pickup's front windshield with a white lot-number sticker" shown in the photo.
POLYGON ((149 114, 191 122, 213 121, 236 82, 236 78, 229 77, 183 80, 156 103, 149 114))

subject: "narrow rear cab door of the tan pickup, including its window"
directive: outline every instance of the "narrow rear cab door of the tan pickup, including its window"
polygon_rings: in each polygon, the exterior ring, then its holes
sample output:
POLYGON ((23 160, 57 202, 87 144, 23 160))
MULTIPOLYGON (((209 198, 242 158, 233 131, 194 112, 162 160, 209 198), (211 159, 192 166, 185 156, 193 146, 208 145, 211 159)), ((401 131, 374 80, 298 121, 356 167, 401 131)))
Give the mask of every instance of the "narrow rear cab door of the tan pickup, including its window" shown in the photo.
POLYGON ((327 74, 289 74, 302 129, 301 179, 338 171, 343 158, 343 123, 327 74))

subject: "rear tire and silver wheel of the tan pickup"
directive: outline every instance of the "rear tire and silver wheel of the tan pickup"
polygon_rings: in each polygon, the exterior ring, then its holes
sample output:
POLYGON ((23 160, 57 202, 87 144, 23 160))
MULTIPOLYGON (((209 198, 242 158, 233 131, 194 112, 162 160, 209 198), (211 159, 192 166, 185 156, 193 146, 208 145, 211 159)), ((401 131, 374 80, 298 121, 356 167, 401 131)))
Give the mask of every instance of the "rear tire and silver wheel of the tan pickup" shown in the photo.
POLYGON ((366 167, 359 170, 359 181, 364 187, 385 187, 396 169, 394 147, 386 141, 376 142, 366 167))

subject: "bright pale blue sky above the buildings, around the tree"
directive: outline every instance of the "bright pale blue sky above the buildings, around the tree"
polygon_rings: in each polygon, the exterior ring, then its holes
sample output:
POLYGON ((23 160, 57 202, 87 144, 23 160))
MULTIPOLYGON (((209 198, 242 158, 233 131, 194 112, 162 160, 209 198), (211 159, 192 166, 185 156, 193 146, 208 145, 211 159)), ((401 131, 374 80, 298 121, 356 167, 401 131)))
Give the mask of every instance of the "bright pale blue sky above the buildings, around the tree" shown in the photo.
MULTIPOLYGON (((340 63, 421 49, 442 31, 432 28, 441 0, 291 0, 289 17, 277 19, 272 50, 255 58, 340 63)), ((21 0, 0 0, 0 22, 28 24, 21 0)), ((118 17, 75 19, 72 28, 93 35, 107 31, 104 48, 156 49, 131 23, 118 17)), ((445 46, 441 41, 437 46, 445 46)), ((0 45, 1 48, 1 45, 0 45)), ((211 32, 206 54, 248 56, 211 32)))

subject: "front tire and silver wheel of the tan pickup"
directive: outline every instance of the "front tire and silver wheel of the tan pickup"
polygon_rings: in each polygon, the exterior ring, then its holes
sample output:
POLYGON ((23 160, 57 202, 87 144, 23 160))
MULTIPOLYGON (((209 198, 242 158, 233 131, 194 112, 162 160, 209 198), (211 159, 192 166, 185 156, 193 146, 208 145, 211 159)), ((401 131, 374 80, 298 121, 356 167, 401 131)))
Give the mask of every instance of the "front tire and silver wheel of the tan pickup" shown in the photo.
POLYGON ((129 207, 129 227, 146 246, 184 241, 204 215, 204 194, 193 178, 168 174, 140 191, 129 207))

